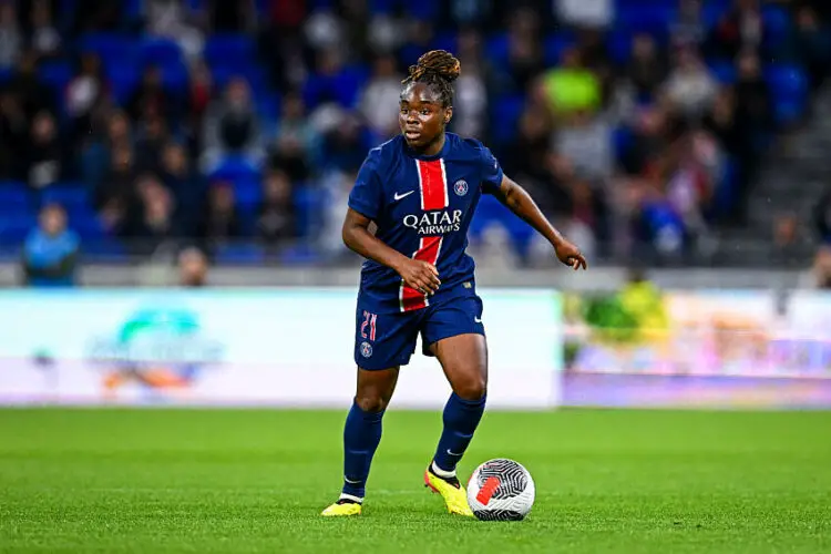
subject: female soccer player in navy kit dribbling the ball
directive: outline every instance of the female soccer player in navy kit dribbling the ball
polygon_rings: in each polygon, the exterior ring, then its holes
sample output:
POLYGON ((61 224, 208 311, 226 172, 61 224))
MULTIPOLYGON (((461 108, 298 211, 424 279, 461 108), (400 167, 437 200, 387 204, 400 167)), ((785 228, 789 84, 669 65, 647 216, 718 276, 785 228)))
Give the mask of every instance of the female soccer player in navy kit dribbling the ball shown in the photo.
POLYGON ((465 254, 482 193, 541 233, 563 264, 586 268, 579 249, 503 175, 486 147, 445 132, 460 69, 443 50, 410 68, 401 92, 401 134, 369 152, 349 195, 343 243, 367 258, 356 311, 358 387, 343 430, 343 489, 322 515, 361 513, 383 412, 419 334, 424 355, 439 359, 453 389, 424 483, 451 513, 473 515, 455 468, 482 418, 488 384, 482 301, 465 254))

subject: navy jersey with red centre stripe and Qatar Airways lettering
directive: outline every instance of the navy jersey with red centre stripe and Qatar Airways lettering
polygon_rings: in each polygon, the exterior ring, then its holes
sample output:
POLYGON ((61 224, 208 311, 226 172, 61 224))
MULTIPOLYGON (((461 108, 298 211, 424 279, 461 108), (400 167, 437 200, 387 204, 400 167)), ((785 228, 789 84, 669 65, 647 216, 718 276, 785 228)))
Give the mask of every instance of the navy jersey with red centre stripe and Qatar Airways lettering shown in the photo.
POLYGON ((375 314, 409 311, 470 294, 473 259, 465 253, 468 227, 482 193, 492 194, 501 184, 502 168, 491 151, 452 133, 434 156, 417 155, 401 135, 372 148, 349 195, 349 207, 376 223, 376 236, 386 245, 435 265, 441 287, 425 298, 404 286, 392 269, 367 260, 361 306, 375 314))

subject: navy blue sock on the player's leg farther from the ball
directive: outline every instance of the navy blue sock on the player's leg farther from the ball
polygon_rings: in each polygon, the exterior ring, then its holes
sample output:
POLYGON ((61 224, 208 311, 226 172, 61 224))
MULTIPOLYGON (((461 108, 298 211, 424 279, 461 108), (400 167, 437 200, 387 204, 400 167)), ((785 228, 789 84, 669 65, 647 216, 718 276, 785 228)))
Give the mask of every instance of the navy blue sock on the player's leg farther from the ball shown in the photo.
POLYGON ((381 442, 383 411, 365 412, 352 402, 343 427, 343 494, 363 499, 372 456, 381 442))

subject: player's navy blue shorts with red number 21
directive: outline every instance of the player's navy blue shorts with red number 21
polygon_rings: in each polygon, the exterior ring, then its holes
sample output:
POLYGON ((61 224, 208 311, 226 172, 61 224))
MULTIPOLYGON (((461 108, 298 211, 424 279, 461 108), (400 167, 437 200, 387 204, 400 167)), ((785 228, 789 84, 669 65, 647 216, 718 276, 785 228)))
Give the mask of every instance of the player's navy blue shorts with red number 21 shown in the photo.
POLYGON ((367 370, 407 366, 419 334, 425 356, 432 356, 428 347, 439 340, 484 335, 482 299, 473 294, 396 314, 373 314, 358 302, 355 319, 355 362, 367 370))

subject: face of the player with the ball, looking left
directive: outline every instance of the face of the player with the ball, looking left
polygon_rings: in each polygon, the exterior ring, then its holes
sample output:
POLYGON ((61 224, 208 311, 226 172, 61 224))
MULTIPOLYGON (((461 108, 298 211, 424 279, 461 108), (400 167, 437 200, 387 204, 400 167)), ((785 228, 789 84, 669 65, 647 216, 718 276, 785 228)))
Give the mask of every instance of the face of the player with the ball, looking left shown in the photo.
POLYGON ((453 109, 442 106, 439 93, 424 83, 408 84, 401 93, 398 123, 407 144, 425 150, 444 133, 453 109))

